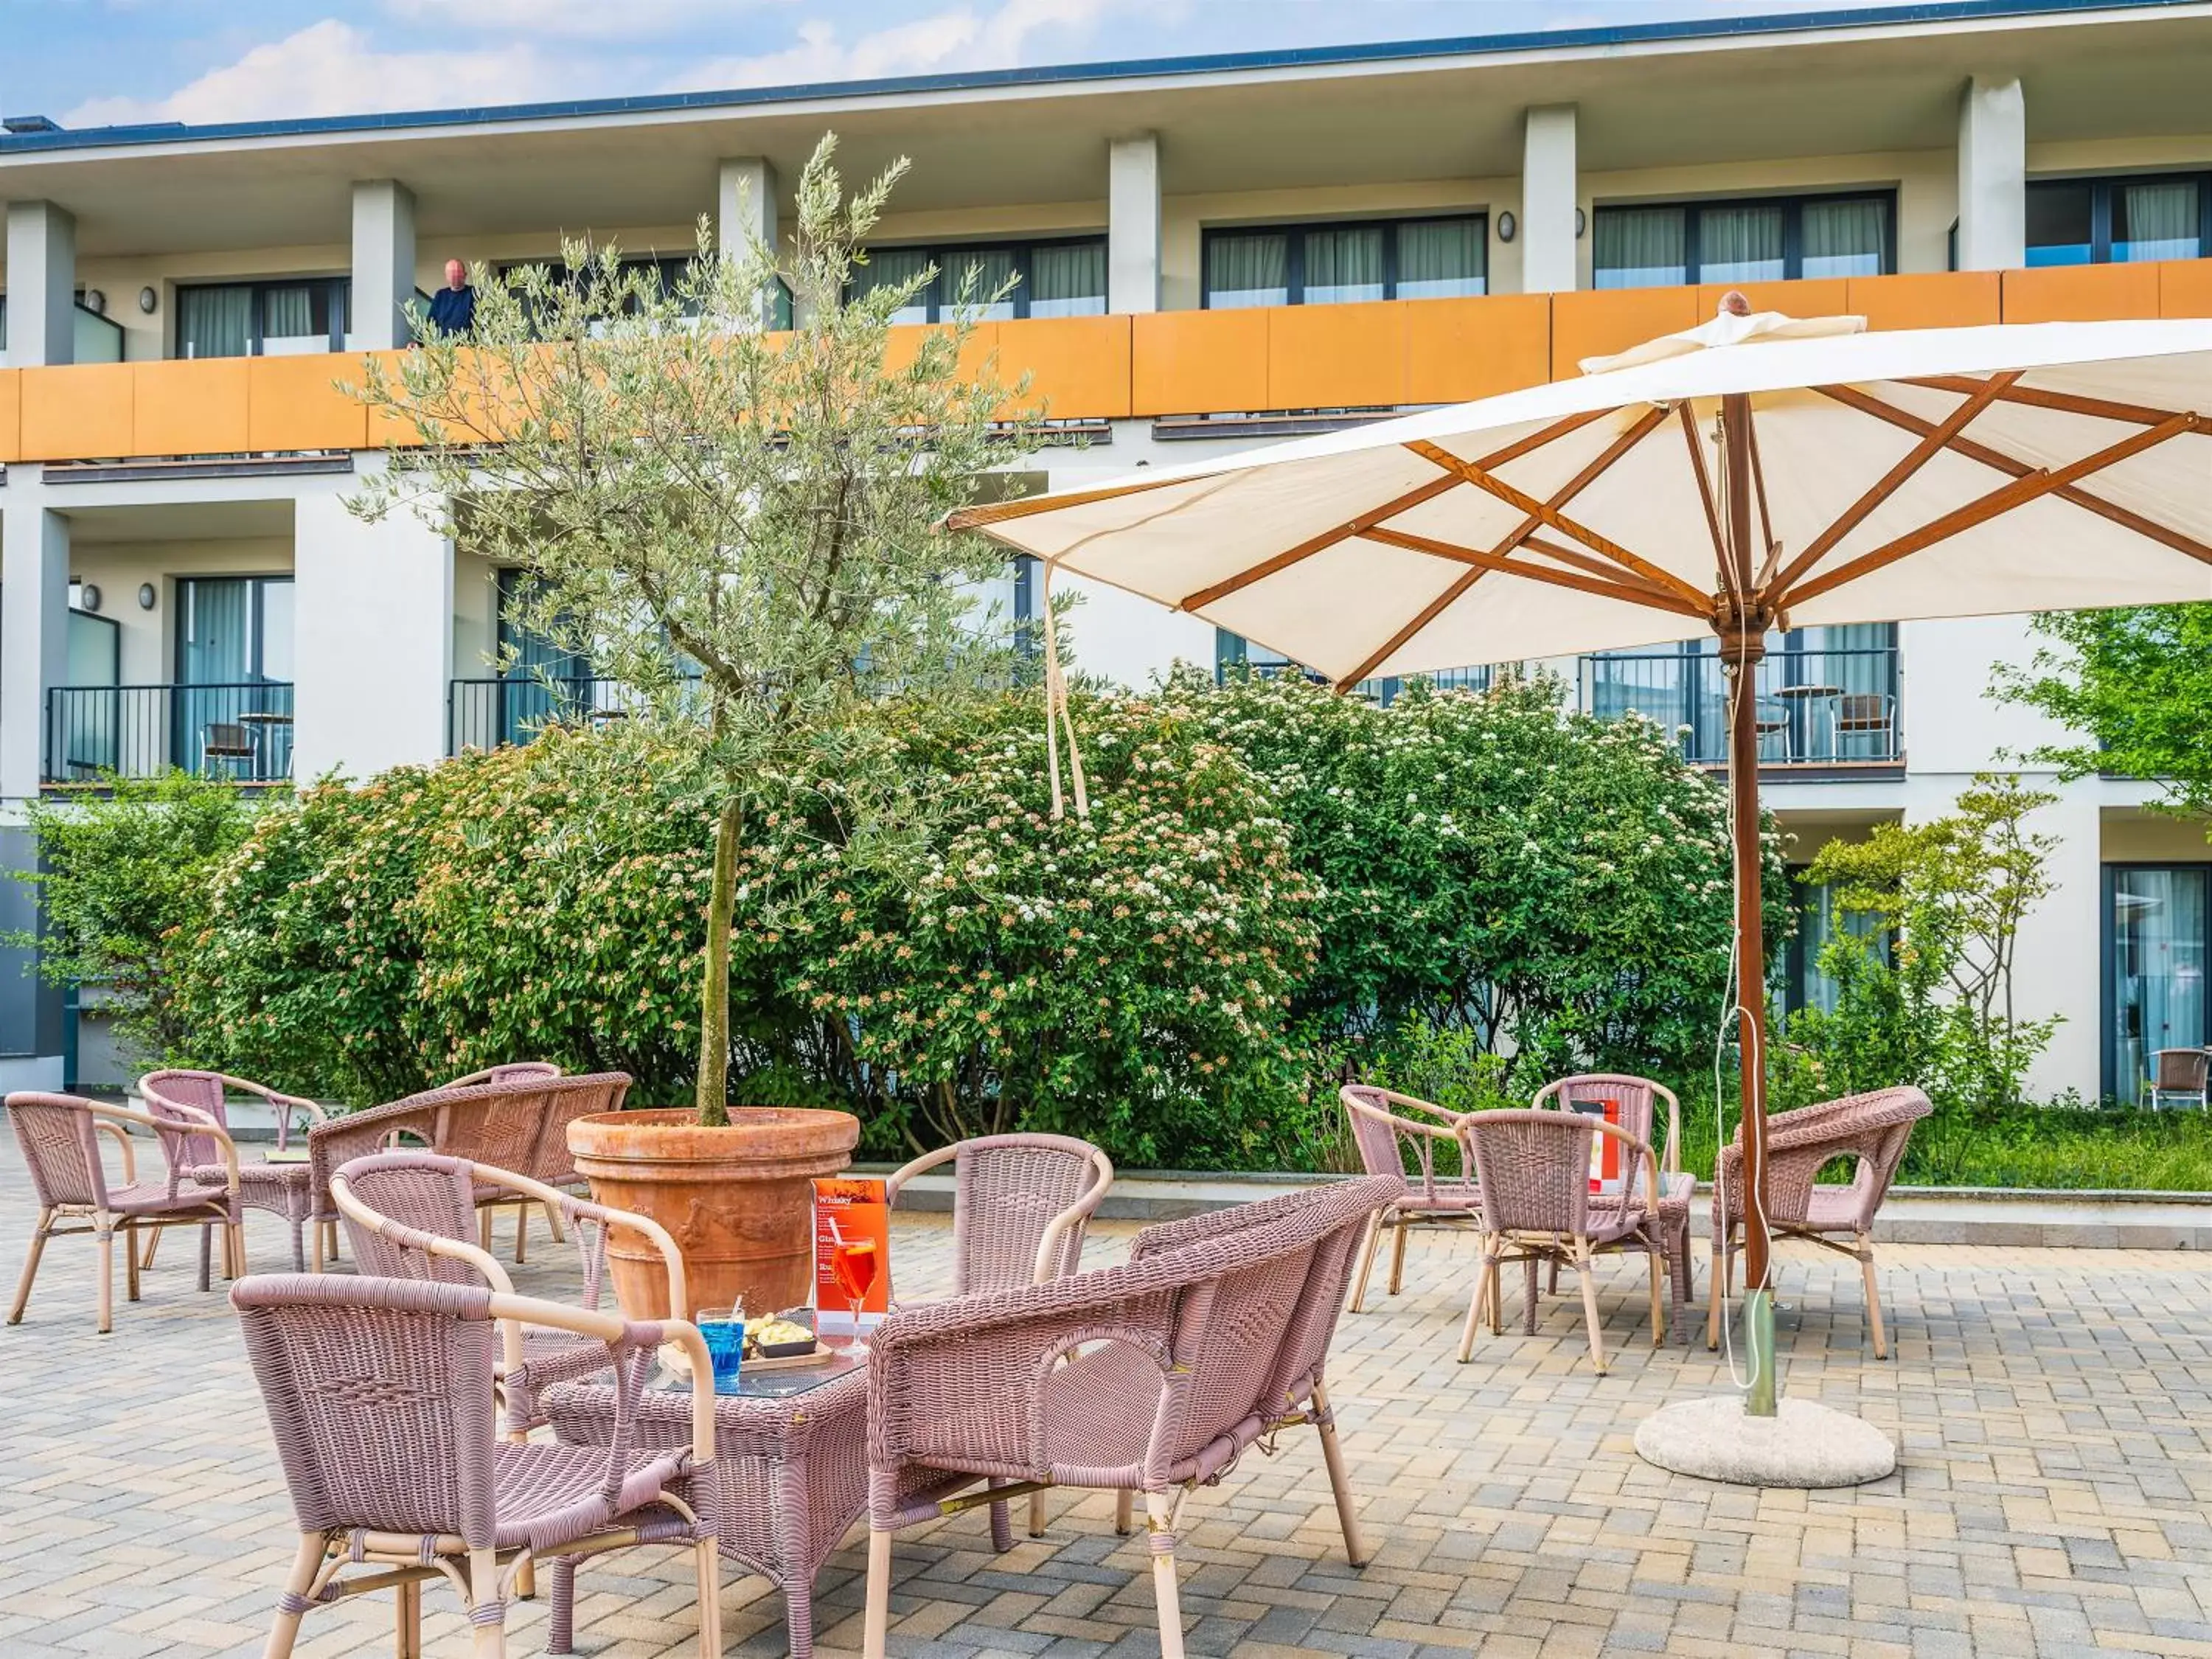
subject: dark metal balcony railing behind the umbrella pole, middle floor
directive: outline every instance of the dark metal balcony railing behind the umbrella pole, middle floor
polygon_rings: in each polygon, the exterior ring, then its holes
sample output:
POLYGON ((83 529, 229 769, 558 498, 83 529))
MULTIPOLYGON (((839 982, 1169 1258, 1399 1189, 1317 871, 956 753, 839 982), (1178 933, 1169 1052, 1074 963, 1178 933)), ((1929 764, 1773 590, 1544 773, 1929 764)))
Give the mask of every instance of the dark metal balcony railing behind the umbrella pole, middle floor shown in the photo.
MULTIPOLYGON (((1756 675, 1761 765, 1896 765, 1898 650, 1767 650, 1756 675)), ((1599 719, 1644 714, 1681 737, 1683 759, 1728 761, 1728 677, 1710 650, 1648 650, 1582 659, 1582 708, 1599 719)))

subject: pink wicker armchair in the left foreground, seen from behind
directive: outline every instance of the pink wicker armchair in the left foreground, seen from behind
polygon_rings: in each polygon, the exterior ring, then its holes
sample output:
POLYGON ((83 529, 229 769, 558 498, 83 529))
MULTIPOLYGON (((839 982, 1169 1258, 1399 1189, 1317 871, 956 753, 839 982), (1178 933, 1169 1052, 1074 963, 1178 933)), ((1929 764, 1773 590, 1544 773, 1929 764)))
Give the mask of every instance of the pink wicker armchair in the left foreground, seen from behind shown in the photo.
POLYGON ((684 1321, 626 1325, 480 1285, 272 1274, 230 1290, 246 1354, 283 1460, 299 1553, 276 1601, 268 1659, 301 1617, 345 1595, 398 1593, 398 1650, 422 1650, 422 1582, 445 1577, 469 1608, 476 1652, 504 1655, 507 1599, 544 1557, 688 1544, 699 1579, 699 1652, 721 1655, 712 1528, 681 1498, 714 1464, 714 1402, 692 1407, 690 1444, 644 1451, 628 1425, 653 1354, 706 1343, 684 1321), (511 1444, 493 1436, 493 1358, 518 1325, 602 1347, 622 1378, 611 1447, 511 1444), (347 1566, 372 1568, 347 1579, 347 1566))

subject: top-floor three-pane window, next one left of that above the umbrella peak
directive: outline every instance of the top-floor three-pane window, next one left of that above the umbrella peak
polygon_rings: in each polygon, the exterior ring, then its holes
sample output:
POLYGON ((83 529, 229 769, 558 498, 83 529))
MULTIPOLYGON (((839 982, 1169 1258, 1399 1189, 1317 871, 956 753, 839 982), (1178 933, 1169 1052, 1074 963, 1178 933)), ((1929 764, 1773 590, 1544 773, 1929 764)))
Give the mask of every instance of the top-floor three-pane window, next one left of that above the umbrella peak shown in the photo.
POLYGON ((1489 219, 1367 219, 1340 226, 1208 230, 1206 305, 1343 305, 1489 290, 1489 219))

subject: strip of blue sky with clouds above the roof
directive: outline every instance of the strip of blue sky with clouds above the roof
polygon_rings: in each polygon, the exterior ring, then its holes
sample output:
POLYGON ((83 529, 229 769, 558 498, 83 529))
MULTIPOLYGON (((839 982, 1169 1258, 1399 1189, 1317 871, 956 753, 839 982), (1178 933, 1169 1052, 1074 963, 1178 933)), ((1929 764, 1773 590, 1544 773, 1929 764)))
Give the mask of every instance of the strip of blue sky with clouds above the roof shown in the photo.
POLYGON ((0 0, 0 113, 51 115, 64 126, 345 115, 1652 22, 1814 2, 0 0))

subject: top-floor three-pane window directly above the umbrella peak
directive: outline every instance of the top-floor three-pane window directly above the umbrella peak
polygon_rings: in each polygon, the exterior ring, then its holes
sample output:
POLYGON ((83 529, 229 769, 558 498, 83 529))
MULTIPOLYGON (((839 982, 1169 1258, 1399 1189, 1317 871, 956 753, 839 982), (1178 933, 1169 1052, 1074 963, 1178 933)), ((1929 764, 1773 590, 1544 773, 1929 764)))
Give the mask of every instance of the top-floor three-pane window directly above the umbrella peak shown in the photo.
POLYGON ((1756 197, 1599 208, 1597 288, 1778 283, 1896 270, 1896 199, 1756 197))

